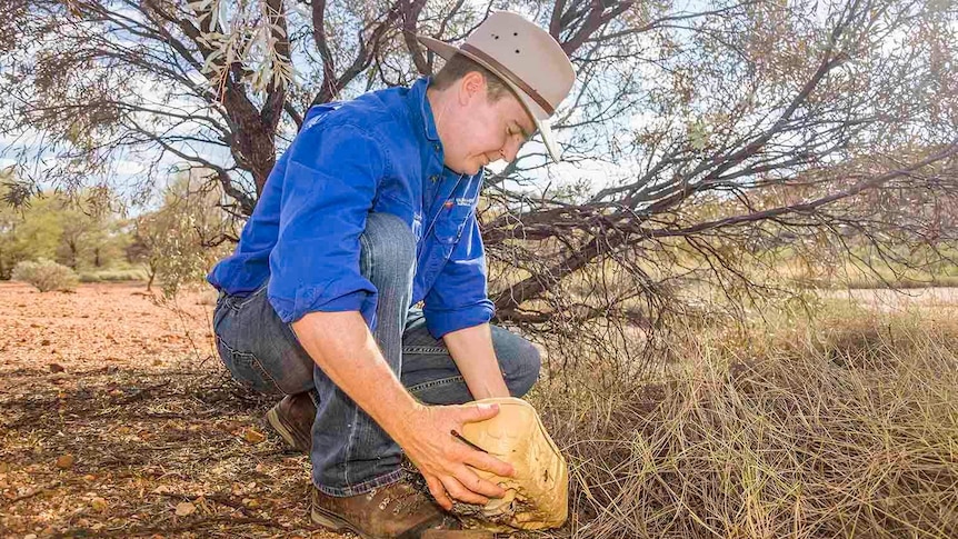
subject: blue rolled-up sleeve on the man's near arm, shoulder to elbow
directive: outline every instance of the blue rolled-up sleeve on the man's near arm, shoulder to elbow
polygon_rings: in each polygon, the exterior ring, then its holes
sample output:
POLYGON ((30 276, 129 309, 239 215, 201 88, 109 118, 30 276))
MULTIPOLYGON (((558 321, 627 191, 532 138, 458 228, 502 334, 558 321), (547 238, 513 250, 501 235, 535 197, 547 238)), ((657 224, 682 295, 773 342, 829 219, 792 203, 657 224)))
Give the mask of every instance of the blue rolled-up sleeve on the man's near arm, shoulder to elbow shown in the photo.
POLYGON ((269 301, 283 322, 360 311, 376 325, 376 287, 359 268, 359 236, 387 172, 385 150, 356 126, 300 133, 288 150, 269 301))

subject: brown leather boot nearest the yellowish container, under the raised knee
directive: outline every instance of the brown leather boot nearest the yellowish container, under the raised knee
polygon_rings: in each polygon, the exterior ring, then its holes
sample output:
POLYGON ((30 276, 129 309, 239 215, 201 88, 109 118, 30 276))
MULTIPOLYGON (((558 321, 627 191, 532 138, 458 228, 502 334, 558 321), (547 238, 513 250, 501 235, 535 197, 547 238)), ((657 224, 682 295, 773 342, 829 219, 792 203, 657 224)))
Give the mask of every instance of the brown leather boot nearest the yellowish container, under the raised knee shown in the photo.
POLYGON ((419 539, 429 529, 458 529, 459 522, 409 481, 365 495, 337 498, 312 488, 312 521, 349 530, 362 539, 419 539))

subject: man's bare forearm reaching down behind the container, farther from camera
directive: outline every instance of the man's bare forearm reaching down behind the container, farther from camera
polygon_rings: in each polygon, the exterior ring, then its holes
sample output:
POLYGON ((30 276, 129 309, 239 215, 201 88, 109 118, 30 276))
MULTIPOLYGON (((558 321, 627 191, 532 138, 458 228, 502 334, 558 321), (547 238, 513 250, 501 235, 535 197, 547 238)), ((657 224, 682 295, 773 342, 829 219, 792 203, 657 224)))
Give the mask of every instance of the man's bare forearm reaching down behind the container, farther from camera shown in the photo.
POLYGON ((492 330, 488 323, 463 328, 442 337, 466 386, 477 399, 509 397, 499 360, 492 349, 492 330))

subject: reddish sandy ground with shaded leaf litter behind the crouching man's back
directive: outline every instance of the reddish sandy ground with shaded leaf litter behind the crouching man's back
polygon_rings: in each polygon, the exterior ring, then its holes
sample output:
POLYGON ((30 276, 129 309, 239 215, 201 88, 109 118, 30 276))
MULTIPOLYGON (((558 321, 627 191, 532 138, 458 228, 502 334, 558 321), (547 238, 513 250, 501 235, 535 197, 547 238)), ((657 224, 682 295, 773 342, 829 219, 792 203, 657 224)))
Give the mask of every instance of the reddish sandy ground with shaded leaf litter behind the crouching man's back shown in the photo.
POLYGON ((0 537, 350 537, 214 358, 213 299, 0 283, 0 537))

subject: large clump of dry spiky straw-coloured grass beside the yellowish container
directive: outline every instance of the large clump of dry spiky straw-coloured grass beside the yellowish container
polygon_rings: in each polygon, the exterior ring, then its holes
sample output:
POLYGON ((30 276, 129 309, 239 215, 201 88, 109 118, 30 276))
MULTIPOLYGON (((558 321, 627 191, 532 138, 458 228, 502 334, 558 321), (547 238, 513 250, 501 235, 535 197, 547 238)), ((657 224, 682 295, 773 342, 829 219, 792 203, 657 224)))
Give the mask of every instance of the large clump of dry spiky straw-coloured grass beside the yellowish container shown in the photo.
POLYGON ((542 383, 571 468, 565 532, 958 537, 958 323, 782 326, 677 332, 685 359, 653 383, 576 361, 542 383))

